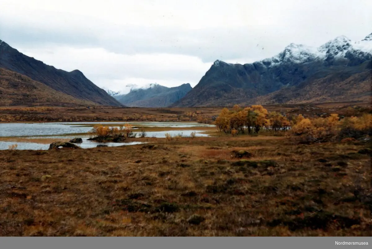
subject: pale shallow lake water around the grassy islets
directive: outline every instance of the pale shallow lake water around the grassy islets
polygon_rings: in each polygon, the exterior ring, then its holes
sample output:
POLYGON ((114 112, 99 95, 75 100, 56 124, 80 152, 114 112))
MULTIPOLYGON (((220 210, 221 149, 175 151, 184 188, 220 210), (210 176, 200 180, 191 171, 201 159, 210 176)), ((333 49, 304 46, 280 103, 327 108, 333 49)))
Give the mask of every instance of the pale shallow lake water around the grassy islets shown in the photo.
MULTIPOLYGON (((73 133, 87 133, 92 129, 91 126, 81 126, 82 124, 124 124, 123 122, 70 122, 70 123, 0 123, 0 137, 25 137, 26 139, 73 139, 80 137, 83 139, 83 143, 78 144, 81 148, 94 148, 99 144, 108 146, 122 146, 122 145, 135 145, 143 142, 129 142, 129 143, 98 143, 87 140, 88 135, 76 136, 73 133), (69 135, 71 134, 71 135, 69 135), (62 135, 62 136, 60 136, 62 135)), ((178 122, 137 122, 131 123, 135 126, 151 126, 151 127, 205 127, 211 125, 204 125, 198 123, 178 123, 178 122)), ((137 137, 141 134, 137 133, 137 137)), ((196 132, 196 136, 208 136, 203 134, 201 130, 170 130, 170 131, 159 131, 159 132, 146 132, 147 137, 153 138, 165 138, 166 133, 171 136, 190 136, 192 132, 196 132)), ((33 142, 12 142, 12 141, 0 141, 0 150, 8 149, 10 145, 17 144, 19 150, 46 150, 49 148, 49 144, 33 143, 33 142)))

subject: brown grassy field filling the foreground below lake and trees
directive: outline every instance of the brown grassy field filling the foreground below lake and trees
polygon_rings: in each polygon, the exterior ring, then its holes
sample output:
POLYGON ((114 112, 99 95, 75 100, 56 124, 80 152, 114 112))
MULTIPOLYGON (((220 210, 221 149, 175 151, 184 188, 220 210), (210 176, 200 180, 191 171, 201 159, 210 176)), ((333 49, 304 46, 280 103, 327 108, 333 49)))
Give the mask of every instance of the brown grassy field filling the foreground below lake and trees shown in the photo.
POLYGON ((0 236, 371 236, 371 144, 142 140, 0 151, 0 236))

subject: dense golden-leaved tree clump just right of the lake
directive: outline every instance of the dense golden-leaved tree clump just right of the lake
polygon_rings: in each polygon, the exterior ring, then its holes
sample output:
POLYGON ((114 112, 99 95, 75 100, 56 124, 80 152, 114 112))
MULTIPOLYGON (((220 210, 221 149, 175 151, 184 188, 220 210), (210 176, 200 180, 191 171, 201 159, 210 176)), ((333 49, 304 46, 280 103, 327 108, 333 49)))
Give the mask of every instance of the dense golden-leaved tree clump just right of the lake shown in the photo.
POLYGON ((219 132, 237 135, 258 133, 263 127, 266 130, 285 130, 291 123, 280 113, 269 112, 260 105, 241 108, 238 105, 222 109, 215 124, 219 132))

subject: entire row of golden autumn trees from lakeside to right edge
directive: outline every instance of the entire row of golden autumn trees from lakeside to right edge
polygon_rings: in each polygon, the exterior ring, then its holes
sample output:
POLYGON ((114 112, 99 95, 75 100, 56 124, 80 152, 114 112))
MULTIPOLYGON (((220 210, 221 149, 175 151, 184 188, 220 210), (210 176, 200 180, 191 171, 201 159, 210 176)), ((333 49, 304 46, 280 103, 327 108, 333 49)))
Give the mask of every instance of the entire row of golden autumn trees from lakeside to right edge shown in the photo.
POLYGON ((338 114, 308 119, 301 114, 296 117, 269 112, 260 105, 241 108, 238 105, 222 109, 215 121, 219 132, 236 136, 259 133, 263 128, 270 131, 290 130, 290 135, 302 136, 307 140, 324 142, 343 138, 359 139, 372 135, 372 114, 360 117, 341 118, 338 114), (291 128, 291 129, 289 129, 291 128))

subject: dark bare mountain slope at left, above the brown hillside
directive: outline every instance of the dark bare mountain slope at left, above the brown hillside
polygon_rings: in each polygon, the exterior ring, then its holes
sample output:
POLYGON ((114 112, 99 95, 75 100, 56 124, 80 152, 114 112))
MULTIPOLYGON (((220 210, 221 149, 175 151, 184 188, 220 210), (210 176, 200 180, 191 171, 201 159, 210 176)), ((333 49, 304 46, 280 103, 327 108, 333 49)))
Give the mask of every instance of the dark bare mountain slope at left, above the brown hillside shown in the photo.
POLYGON ((0 40, 0 68, 23 74, 34 81, 80 100, 101 105, 121 106, 103 89, 88 80, 82 72, 67 72, 26 56, 0 40))

